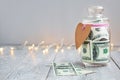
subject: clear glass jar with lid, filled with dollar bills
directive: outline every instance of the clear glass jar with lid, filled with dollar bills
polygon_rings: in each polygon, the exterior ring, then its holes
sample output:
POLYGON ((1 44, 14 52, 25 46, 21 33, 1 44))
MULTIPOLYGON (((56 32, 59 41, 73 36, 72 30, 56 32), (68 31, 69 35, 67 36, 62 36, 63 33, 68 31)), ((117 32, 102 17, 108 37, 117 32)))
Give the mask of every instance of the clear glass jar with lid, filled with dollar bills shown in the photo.
POLYGON ((82 21, 84 25, 91 25, 90 34, 81 48, 84 64, 106 65, 110 60, 110 28, 103 11, 102 6, 89 7, 89 16, 82 21))

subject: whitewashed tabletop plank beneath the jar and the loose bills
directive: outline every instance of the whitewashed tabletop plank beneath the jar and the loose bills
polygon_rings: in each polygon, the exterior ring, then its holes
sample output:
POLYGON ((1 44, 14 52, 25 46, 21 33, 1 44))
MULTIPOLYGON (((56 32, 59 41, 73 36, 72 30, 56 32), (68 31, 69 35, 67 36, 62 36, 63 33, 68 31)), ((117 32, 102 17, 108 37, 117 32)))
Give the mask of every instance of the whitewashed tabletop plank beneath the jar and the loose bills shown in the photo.
MULTIPOLYGON (((56 56, 55 61, 59 62, 72 62, 80 67, 84 67, 80 62, 80 55, 74 50, 66 51, 63 54, 60 53, 56 56), (69 53, 68 53, 69 52, 69 53)), ((86 69, 93 70, 95 73, 81 76, 56 76, 53 72, 53 68, 50 70, 47 80, 119 80, 120 70, 116 66, 113 60, 111 60, 106 66, 91 67, 85 66, 86 69)))

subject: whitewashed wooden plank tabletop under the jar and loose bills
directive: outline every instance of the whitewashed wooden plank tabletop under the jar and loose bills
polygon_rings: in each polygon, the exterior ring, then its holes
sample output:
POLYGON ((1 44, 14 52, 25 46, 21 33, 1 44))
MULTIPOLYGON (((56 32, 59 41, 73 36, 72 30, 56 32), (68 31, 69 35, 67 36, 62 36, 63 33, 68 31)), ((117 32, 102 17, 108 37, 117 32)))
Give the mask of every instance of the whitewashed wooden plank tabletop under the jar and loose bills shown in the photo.
POLYGON ((120 80, 120 52, 111 52, 111 61, 107 66, 87 67, 80 62, 80 54, 74 47, 55 53, 50 49, 43 54, 42 50, 29 52, 26 48, 16 48, 10 54, 10 48, 4 47, 0 54, 0 80, 120 80), (56 76, 52 62, 72 62, 74 65, 94 70, 96 73, 80 76, 56 76))

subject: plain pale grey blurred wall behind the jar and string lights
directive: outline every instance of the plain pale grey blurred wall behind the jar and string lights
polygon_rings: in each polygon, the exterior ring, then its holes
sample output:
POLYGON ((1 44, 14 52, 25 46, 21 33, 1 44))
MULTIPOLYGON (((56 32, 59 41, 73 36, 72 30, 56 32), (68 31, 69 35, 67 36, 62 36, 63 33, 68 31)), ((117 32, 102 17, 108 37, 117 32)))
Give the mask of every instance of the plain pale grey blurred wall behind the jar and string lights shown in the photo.
POLYGON ((89 6, 101 5, 110 19, 112 43, 120 45, 120 0, 0 0, 0 45, 24 41, 74 43, 75 28, 89 6))

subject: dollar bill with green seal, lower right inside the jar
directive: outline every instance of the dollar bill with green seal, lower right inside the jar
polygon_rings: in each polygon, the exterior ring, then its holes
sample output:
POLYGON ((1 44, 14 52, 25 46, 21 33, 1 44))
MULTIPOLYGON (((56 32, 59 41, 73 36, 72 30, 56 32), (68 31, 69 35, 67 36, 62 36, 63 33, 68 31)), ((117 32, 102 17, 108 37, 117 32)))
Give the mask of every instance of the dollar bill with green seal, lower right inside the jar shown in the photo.
POLYGON ((109 41, 95 41, 92 43, 94 62, 108 62, 110 53, 109 45, 109 41))

